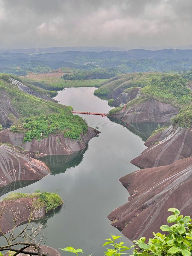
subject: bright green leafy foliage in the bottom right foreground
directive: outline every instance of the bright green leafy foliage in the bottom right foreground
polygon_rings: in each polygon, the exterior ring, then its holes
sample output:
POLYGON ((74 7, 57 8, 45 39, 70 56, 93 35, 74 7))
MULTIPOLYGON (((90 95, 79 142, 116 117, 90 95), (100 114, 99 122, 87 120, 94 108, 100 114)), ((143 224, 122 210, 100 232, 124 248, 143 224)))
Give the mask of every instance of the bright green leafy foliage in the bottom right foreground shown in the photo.
MULTIPOLYGON (((134 240, 134 245, 131 247, 125 246, 124 242, 116 243, 115 240, 121 236, 113 236, 105 239, 107 242, 103 246, 110 245, 106 248, 104 255, 120 256, 127 254, 125 251, 135 247, 131 256, 151 256, 151 255, 176 255, 176 256, 191 256, 192 254, 192 224, 190 216, 180 215, 180 211, 176 208, 168 209, 173 214, 167 218, 167 222, 174 223, 171 226, 162 225, 160 229, 166 233, 153 233, 154 237, 146 242, 145 237, 139 240, 134 240)), ((78 255, 82 253, 82 249, 74 249, 73 247, 66 247, 61 250, 70 251, 78 255)))

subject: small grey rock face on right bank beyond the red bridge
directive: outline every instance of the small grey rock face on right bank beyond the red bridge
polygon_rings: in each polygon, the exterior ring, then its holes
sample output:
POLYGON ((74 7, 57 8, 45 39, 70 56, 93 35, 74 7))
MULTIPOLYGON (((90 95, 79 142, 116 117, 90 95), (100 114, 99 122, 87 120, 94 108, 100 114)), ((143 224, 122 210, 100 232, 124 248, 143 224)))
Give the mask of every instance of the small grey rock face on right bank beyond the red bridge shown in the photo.
POLYGON ((122 92, 118 98, 113 101, 113 106, 122 106, 127 104, 129 101, 132 101, 134 98, 140 96, 141 88, 137 87, 132 89, 130 92, 122 92))

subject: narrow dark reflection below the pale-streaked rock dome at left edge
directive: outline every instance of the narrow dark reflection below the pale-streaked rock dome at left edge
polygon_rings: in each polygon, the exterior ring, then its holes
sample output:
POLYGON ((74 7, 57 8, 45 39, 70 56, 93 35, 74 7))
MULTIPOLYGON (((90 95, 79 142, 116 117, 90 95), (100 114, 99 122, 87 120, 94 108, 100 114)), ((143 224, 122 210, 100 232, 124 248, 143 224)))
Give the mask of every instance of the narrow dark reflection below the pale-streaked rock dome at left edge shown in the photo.
POLYGON ((16 189, 29 186, 29 185, 31 185, 32 183, 35 183, 38 180, 39 179, 35 179, 35 180, 16 180, 16 181, 13 181, 13 182, 9 183, 7 186, 5 186, 3 188, 0 188, 0 197, 3 196, 4 194, 7 194, 7 193, 9 193, 11 191, 14 191, 16 189))

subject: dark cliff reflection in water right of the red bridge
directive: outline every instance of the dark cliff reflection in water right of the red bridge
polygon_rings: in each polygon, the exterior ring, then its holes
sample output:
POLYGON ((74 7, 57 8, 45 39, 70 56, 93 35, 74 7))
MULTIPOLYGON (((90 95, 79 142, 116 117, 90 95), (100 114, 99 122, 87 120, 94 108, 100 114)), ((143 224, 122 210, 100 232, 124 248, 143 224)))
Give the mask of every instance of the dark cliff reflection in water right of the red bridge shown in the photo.
POLYGON ((151 136, 152 131, 154 131, 158 126, 158 123, 149 123, 149 122, 143 122, 143 123, 129 122, 129 126, 127 126, 127 123, 122 122, 120 120, 113 119, 111 117, 109 119, 112 122, 125 126, 127 129, 129 129, 129 131, 138 135, 143 141, 146 141, 151 136))

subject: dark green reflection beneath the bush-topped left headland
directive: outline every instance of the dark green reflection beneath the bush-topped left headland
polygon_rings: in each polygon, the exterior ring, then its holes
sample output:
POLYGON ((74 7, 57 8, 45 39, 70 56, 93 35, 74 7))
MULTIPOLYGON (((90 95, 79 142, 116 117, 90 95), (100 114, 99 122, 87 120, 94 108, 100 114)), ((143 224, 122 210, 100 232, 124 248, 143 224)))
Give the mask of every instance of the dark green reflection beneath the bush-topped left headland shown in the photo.
POLYGON ((88 146, 83 149, 74 152, 70 155, 48 155, 39 158, 40 161, 43 161, 46 166, 49 167, 51 174, 64 173, 67 169, 71 167, 76 167, 83 160, 83 154, 88 149, 88 146))

